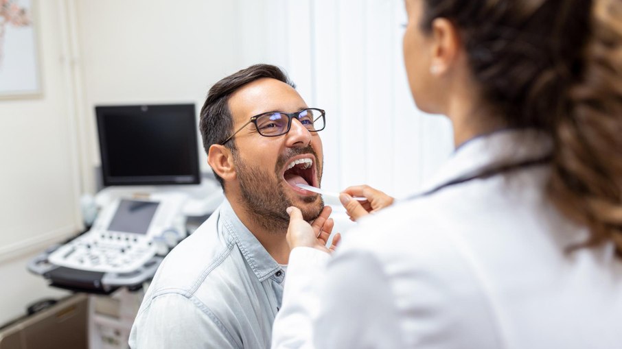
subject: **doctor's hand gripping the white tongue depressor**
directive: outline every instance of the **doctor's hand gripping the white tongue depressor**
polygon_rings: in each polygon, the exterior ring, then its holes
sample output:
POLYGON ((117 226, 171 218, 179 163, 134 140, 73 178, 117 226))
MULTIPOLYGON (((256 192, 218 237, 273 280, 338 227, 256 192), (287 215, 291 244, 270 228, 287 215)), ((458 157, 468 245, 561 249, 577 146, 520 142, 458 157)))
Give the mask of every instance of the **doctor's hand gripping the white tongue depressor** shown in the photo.
POLYGON ((374 213, 378 210, 382 210, 382 208, 391 206, 394 199, 382 193, 382 191, 373 189, 369 185, 355 185, 349 186, 345 191, 342 191, 339 195, 339 200, 343 207, 345 207, 347 215, 350 216, 350 220, 356 221, 360 217, 369 215, 369 213, 374 213), (365 197, 367 201, 359 202, 353 200, 353 196, 365 197))

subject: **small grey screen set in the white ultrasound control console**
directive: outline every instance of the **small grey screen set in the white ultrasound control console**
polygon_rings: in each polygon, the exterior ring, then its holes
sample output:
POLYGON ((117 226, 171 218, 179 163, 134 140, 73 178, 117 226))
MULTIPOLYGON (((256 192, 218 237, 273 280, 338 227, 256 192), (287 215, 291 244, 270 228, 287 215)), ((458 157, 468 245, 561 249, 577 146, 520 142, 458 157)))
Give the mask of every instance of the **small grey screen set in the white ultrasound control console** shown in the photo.
POLYGON ((108 230, 146 234, 158 205, 158 202, 121 200, 108 230))

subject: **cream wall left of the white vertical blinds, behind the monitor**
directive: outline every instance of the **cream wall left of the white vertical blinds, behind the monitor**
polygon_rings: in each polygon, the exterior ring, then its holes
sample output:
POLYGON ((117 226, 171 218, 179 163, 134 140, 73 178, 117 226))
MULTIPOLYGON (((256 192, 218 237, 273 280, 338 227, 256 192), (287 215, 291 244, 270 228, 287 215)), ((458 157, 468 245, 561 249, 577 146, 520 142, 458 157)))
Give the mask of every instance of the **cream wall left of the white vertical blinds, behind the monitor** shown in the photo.
POLYGON ((242 68, 238 1, 36 5, 43 97, 0 101, 0 324, 65 294, 25 265, 81 228, 78 197, 95 191, 99 165, 93 106, 191 101, 198 112, 211 84, 242 68))

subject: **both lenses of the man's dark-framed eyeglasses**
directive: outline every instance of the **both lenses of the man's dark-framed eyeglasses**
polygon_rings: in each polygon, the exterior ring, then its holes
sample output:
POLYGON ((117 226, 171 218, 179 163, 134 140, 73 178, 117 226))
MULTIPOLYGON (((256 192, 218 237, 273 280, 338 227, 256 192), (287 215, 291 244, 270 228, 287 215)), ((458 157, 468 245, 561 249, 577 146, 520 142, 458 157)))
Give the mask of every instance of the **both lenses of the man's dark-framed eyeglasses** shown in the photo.
MULTIPOLYGON (((322 130, 324 128, 324 118, 319 110, 302 110, 296 117, 309 131, 322 130)), ((282 112, 269 112, 260 115, 256 121, 257 129, 263 136, 278 136, 288 131, 289 117, 282 112)))

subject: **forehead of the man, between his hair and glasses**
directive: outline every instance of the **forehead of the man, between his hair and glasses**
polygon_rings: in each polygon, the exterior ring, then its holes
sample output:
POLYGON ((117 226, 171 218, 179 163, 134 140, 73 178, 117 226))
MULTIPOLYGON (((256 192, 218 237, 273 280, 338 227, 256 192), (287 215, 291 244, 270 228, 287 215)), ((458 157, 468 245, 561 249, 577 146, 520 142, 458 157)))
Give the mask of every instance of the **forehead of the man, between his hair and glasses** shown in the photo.
POLYGON ((306 108, 305 101, 292 86, 276 79, 249 82, 229 97, 229 109, 235 119, 262 112, 293 112, 306 108))

